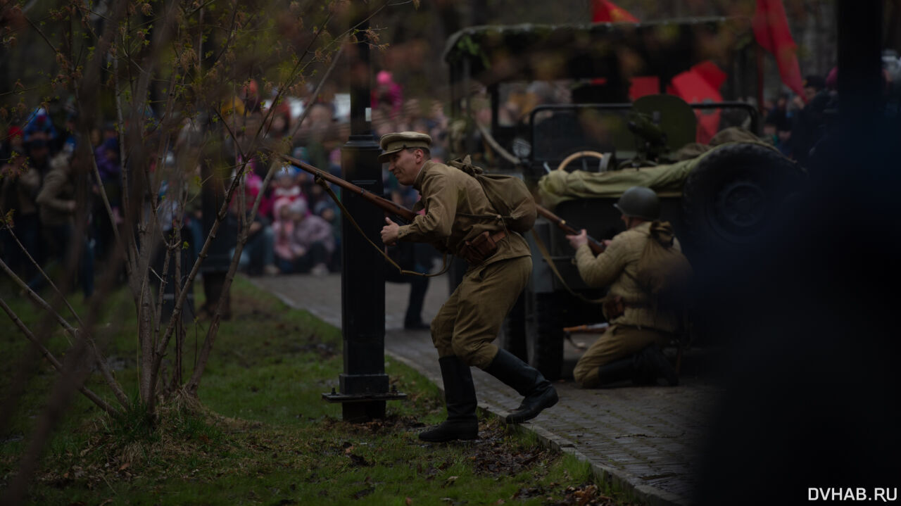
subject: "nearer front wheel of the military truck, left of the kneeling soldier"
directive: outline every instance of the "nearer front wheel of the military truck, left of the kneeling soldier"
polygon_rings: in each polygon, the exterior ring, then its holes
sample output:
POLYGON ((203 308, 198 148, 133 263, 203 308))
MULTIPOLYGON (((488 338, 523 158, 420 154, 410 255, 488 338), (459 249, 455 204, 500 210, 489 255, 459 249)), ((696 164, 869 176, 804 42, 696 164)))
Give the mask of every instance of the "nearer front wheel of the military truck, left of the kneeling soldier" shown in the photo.
POLYGON ((532 311, 525 320, 529 365, 545 378, 560 378, 563 366, 563 325, 554 294, 532 294, 532 311))

